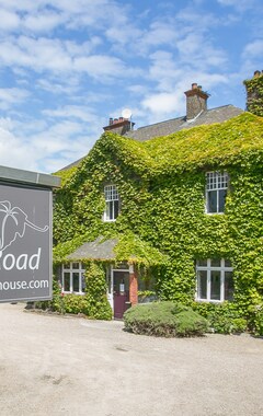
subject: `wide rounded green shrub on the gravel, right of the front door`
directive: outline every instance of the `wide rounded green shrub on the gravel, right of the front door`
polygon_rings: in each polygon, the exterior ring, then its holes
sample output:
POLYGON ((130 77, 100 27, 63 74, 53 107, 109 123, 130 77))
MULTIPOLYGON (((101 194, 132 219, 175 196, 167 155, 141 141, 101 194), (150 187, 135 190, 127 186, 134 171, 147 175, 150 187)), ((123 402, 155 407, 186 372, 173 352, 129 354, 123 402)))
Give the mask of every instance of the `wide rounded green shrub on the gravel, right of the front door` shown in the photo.
POLYGON ((181 303, 152 302, 137 304, 124 314, 124 325, 135 334, 155 336, 201 336, 207 321, 191 308, 181 303))

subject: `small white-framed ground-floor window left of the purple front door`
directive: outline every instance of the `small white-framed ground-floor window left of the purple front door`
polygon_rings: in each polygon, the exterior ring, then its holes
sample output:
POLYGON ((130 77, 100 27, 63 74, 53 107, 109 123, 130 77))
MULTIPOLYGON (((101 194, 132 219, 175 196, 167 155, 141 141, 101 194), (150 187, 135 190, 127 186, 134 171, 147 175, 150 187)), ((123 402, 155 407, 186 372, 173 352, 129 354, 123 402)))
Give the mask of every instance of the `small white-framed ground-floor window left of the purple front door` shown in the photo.
POLYGON ((70 262, 62 265, 62 292, 84 293, 84 269, 80 262, 70 262))

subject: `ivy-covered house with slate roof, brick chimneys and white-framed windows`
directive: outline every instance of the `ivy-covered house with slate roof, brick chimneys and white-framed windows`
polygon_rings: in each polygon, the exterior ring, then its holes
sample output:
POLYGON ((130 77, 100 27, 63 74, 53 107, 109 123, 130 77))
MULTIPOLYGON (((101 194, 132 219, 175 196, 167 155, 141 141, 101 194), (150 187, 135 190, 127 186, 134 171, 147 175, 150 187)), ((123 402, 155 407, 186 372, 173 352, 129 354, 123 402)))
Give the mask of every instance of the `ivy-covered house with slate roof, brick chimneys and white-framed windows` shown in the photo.
MULTIPOLYGON (((262 74, 259 77, 263 78, 262 74)), ((133 129, 110 119, 90 153, 60 174, 55 264, 65 293, 84 292, 95 262, 115 317, 139 297, 263 305, 263 119, 207 109, 133 129)))

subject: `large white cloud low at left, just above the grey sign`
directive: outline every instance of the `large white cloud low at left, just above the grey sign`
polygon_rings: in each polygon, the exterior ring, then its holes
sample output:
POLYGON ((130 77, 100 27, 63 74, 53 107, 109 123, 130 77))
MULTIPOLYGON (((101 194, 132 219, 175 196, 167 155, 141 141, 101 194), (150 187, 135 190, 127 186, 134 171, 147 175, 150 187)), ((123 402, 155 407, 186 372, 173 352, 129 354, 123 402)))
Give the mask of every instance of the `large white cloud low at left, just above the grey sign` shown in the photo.
POLYGON ((81 123, 62 120, 31 135, 28 129, 22 124, 18 135, 18 124, 0 119, 0 165, 50 173, 87 154, 94 142, 81 123))

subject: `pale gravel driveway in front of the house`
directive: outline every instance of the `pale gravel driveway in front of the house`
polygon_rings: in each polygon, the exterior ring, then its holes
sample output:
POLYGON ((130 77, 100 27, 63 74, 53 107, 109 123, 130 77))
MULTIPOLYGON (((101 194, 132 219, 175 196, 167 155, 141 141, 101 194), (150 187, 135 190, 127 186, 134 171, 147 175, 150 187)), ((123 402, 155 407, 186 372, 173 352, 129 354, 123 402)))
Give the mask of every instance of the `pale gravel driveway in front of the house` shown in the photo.
POLYGON ((263 339, 153 338, 0 304, 1 416, 263 415, 263 339))

